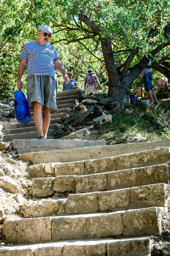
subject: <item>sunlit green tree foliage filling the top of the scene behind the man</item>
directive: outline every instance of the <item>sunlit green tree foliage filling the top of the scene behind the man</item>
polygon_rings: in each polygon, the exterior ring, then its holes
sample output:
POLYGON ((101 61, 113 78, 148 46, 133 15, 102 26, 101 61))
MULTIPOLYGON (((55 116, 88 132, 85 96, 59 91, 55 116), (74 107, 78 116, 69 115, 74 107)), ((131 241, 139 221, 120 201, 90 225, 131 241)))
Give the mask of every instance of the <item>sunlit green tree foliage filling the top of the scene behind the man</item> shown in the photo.
MULTIPOLYGON (((0 99, 13 95, 16 89, 19 55, 24 43, 36 40, 37 28, 47 24, 53 28, 51 43, 56 47, 66 70, 73 72, 78 85, 84 88, 87 69, 93 68, 107 94, 108 78, 100 38, 81 22, 82 9, 91 20, 102 27, 101 37, 110 38, 117 65, 122 65, 128 49, 139 47, 138 57, 148 54, 159 43, 169 40, 170 2, 167 0, 2 0, 0 1, 0 99)), ((169 56, 169 49, 162 49, 154 58, 169 56)), ((62 90, 63 78, 58 75, 62 90)), ((23 77, 26 88, 25 74, 23 77)), ((132 85, 138 87, 139 80, 132 85)))

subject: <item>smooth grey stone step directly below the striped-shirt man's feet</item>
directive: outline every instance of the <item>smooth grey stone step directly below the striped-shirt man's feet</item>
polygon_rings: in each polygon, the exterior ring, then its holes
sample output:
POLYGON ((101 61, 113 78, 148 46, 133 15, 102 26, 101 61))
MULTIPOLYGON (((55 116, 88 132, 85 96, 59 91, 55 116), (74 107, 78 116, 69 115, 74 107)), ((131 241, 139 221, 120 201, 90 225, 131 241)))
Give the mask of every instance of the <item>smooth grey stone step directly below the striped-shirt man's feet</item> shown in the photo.
MULTIPOLYGON (((48 150, 62 150, 64 148, 80 148, 106 145, 105 140, 85 140, 85 139, 50 139, 37 141, 35 139, 14 139, 11 141, 13 148, 18 154, 48 150)), ((51 154, 53 151, 50 151, 51 154)), ((45 159, 44 159, 45 160, 45 159)))

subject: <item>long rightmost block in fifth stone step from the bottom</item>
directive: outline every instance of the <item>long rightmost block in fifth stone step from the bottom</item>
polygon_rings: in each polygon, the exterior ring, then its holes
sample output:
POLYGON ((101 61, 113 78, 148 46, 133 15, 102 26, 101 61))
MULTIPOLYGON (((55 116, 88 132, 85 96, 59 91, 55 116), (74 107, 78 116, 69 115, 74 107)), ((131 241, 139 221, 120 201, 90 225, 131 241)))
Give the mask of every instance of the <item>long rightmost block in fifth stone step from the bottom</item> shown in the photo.
POLYGON ((170 159, 170 148, 156 148, 115 157, 117 170, 164 164, 170 159))

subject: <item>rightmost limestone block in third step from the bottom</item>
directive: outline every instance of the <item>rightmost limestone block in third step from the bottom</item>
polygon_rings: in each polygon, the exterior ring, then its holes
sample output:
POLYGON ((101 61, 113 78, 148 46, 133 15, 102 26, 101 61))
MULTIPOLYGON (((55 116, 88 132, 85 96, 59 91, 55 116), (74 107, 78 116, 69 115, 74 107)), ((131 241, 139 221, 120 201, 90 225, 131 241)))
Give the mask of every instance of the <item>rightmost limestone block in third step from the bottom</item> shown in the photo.
POLYGON ((153 184, 131 188, 130 204, 128 209, 139 207, 168 207, 170 185, 153 184))

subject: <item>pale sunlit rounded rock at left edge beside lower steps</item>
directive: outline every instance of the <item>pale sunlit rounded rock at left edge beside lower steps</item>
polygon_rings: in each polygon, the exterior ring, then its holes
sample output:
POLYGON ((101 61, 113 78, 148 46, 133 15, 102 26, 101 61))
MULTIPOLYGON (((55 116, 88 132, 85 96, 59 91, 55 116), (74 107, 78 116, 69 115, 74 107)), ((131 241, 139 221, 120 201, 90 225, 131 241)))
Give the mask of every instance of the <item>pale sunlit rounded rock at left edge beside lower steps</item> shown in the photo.
POLYGON ((20 193, 20 188, 9 176, 2 176, 0 177, 0 187, 6 191, 9 191, 11 193, 20 193))

